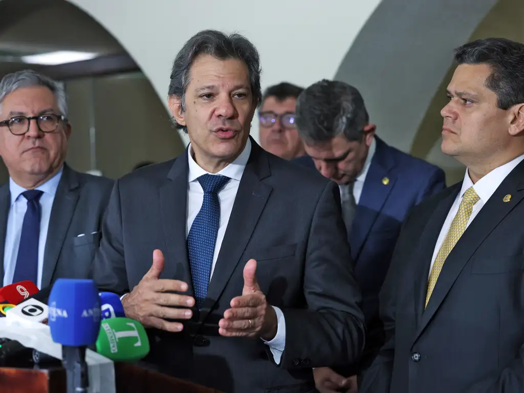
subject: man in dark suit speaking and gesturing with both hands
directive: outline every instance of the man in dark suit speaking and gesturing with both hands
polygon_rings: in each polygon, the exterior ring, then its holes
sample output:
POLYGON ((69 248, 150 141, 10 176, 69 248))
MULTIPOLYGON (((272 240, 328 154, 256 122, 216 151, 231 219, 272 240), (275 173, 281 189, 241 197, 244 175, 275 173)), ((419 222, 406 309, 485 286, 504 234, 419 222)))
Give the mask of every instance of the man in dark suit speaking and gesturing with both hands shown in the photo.
POLYGON ((125 312, 155 328, 147 360, 161 371, 227 392, 313 391, 311 367, 364 344, 340 192, 249 137, 260 69, 244 37, 192 37, 169 94, 191 144, 116 182, 95 279, 130 291, 125 312))

